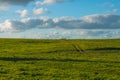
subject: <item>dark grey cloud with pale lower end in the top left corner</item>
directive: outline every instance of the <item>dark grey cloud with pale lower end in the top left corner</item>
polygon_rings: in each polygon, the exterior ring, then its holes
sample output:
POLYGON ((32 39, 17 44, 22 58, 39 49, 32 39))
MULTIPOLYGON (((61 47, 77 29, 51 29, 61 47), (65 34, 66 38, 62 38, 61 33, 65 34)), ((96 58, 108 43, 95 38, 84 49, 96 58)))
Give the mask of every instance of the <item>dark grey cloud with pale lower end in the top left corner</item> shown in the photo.
POLYGON ((31 1, 34 0, 0 0, 0 9, 6 10, 11 5, 26 6, 31 1))

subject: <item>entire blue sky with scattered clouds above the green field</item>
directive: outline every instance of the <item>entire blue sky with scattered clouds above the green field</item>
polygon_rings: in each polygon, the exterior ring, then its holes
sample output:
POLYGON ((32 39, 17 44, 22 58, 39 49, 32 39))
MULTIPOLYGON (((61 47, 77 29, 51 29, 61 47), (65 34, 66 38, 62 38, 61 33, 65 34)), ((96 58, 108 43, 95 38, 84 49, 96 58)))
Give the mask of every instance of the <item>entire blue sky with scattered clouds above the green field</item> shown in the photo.
POLYGON ((1 38, 120 38, 119 0, 0 0, 1 38))

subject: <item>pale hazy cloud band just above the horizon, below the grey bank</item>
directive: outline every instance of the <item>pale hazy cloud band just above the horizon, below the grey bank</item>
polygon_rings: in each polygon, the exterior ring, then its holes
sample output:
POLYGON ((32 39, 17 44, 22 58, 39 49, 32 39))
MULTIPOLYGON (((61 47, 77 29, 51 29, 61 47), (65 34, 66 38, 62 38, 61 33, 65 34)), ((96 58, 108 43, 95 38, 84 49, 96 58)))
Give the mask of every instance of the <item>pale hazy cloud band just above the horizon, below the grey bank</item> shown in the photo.
POLYGON ((31 29, 21 33, 1 33, 6 38, 41 38, 41 39, 88 39, 88 38, 120 38, 119 30, 90 30, 90 29, 31 29), (44 32, 43 32, 44 30, 44 32))

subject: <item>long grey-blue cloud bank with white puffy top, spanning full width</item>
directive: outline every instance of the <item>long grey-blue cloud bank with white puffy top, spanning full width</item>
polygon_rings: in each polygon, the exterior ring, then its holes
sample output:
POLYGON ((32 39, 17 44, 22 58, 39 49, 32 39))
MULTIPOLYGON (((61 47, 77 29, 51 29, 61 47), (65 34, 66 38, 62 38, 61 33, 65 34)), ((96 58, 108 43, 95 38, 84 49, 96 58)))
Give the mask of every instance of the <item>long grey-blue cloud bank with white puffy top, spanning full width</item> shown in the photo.
POLYGON ((62 28, 62 29, 120 29, 120 15, 89 15, 82 18, 27 18, 21 21, 6 20, 0 23, 0 31, 24 31, 32 28, 62 28))

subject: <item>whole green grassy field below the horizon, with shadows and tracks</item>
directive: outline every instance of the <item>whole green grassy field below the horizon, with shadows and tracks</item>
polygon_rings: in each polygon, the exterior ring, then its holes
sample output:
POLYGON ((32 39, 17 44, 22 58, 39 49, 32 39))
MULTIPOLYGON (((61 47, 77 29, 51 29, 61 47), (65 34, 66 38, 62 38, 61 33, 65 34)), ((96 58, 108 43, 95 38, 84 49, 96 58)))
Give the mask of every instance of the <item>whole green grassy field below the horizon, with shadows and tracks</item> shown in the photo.
POLYGON ((0 39, 0 80, 120 80, 120 40, 0 39))

